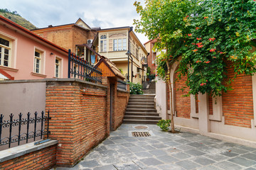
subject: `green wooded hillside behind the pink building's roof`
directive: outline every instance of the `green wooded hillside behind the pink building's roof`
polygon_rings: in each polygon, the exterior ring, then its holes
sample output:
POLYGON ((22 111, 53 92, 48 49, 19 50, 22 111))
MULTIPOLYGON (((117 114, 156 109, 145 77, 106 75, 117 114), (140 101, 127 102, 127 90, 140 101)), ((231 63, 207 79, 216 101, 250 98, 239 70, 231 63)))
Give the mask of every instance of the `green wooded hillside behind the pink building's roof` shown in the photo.
POLYGON ((8 18, 11 21, 14 21, 14 23, 17 23, 18 25, 23 26, 28 30, 36 29, 36 26, 33 26, 33 24, 27 21, 25 18, 22 18, 17 13, 17 11, 11 12, 9 9, 0 9, 0 15, 8 18))

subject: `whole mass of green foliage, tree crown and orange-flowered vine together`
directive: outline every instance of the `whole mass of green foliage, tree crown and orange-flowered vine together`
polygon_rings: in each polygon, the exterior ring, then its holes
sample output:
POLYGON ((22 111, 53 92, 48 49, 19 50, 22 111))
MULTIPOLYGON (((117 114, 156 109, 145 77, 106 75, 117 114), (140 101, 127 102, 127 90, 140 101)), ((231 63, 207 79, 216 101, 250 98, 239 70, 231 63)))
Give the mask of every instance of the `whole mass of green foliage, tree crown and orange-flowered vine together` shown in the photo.
POLYGON ((238 74, 256 72, 256 1, 146 0, 134 4, 139 33, 158 40, 157 76, 169 80, 171 64, 180 60, 179 75, 187 76, 189 94, 220 96, 228 91, 227 62, 238 74), (180 58, 179 58, 180 57, 180 58))

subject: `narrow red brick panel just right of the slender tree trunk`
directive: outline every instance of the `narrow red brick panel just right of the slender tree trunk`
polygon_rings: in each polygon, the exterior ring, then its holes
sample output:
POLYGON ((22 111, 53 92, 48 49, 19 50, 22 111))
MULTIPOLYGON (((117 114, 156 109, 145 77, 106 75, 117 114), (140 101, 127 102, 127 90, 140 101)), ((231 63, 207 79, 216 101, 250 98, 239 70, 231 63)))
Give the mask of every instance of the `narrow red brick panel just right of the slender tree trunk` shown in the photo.
POLYGON ((174 75, 174 96, 175 96, 175 111, 177 117, 190 118, 191 113, 191 99, 190 97, 184 97, 189 91, 186 87, 186 77, 178 79, 179 72, 174 75), (183 89, 183 90, 181 90, 183 89))

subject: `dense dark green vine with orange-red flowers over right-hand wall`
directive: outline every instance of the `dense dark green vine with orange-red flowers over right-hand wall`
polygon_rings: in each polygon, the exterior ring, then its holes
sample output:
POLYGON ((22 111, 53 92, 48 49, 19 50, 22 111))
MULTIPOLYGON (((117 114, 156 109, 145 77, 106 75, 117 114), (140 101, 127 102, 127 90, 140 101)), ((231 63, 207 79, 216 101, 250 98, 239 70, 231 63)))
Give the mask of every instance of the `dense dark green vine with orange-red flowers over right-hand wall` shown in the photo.
POLYGON ((255 0, 204 0, 201 8, 186 18, 190 33, 180 50, 178 71, 187 75, 190 94, 220 96, 227 91, 227 62, 237 74, 254 74, 256 53, 255 0))

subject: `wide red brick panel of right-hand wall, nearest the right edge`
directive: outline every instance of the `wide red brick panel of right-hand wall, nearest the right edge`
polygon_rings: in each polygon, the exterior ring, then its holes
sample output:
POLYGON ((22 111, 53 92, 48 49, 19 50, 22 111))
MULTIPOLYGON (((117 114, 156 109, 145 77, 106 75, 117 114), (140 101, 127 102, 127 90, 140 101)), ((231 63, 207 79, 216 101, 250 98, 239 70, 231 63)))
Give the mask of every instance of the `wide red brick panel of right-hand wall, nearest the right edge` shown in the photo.
MULTIPOLYGON (((234 77, 228 63, 228 79, 234 77)), ((241 74, 230 84, 232 91, 223 93, 223 115, 226 125, 251 128, 253 119, 252 77, 241 74)))

